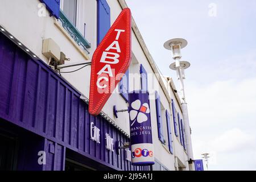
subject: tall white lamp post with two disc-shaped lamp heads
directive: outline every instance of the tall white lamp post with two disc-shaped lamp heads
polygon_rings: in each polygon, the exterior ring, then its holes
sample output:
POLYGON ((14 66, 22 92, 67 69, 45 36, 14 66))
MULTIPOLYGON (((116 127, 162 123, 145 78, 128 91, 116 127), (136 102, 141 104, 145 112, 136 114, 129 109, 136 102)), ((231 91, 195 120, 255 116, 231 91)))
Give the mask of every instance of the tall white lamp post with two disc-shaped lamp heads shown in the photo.
MULTIPOLYGON (((184 129, 185 129, 185 138, 186 138, 186 146, 187 146, 187 154, 188 160, 190 162, 193 161, 193 151, 192 151, 192 142, 191 142, 191 129, 189 126, 188 119, 188 107, 187 102, 185 101, 185 92, 184 92, 184 69, 187 69, 190 66, 188 61, 180 61, 181 52, 180 50, 186 47, 188 44, 185 39, 171 39, 164 43, 164 48, 172 51, 172 58, 175 60, 175 63, 170 65, 170 69, 175 70, 177 73, 177 79, 180 82, 180 91, 181 91, 181 107, 183 112, 183 121, 184 121, 184 129)), ((193 163, 189 163, 189 170, 195 170, 195 166, 193 163)))

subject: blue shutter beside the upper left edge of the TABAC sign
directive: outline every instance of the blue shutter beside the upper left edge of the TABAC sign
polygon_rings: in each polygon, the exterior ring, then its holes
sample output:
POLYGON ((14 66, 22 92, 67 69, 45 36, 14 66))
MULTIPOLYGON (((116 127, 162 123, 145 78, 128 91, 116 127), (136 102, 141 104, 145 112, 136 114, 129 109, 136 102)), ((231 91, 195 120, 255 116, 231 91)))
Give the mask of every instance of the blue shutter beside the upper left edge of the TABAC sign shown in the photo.
POLYGON ((106 0, 97 0, 97 45, 110 28, 110 7, 106 0))

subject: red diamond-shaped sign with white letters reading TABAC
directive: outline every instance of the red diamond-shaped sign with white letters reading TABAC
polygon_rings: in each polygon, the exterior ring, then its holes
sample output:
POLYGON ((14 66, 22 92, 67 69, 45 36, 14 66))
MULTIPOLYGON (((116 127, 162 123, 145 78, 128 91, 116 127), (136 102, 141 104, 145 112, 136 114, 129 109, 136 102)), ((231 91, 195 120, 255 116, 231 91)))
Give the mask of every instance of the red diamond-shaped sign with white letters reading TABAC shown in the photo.
POLYGON ((123 9, 92 57, 89 113, 98 115, 131 62, 131 12, 123 9))

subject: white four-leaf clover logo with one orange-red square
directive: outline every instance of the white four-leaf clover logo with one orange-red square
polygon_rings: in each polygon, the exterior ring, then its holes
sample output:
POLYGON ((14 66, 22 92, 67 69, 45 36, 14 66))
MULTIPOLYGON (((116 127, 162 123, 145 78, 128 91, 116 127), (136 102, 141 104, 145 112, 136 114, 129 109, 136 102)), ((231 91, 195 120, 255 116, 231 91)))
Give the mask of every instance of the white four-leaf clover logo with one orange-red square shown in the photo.
POLYGON ((130 120, 133 121, 133 123, 131 123, 131 126, 134 125, 135 121, 137 121, 138 123, 143 123, 147 121, 146 113, 147 114, 150 113, 150 109, 146 102, 141 105, 141 101, 136 100, 131 103, 131 108, 132 110, 130 110, 130 113, 129 113, 130 120))

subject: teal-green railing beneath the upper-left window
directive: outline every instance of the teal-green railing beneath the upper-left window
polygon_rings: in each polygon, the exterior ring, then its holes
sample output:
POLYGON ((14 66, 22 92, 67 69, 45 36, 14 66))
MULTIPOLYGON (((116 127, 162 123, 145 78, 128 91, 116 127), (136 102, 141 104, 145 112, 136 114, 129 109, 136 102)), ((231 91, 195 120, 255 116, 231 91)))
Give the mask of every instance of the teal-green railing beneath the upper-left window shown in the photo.
POLYGON ((68 34, 75 40, 75 42, 81 46, 87 53, 90 53, 87 48, 90 48, 90 43, 82 36, 79 30, 73 24, 67 16, 60 10, 60 21, 63 28, 68 32, 68 34))

